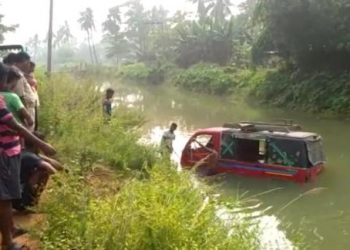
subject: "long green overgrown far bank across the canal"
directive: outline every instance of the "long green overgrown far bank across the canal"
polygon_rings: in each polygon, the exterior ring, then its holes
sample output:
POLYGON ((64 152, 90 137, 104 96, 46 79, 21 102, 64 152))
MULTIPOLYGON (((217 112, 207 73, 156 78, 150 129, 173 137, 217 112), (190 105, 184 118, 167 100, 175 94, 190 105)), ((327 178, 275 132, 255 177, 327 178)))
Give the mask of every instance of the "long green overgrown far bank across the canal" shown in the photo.
MULTIPOLYGON (((127 66, 127 79, 142 75, 143 64, 127 66)), ((212 64, 197 64, 188 69, 169 68, 165 81, 189 91, 233 94, 254 102, 288 109, 350 114, 350 75, 348 73, 300 73, 280 69, 238 69, 212 64)), ((166 70, 164 70, 166 71, 166 70)), ((123 72, 123 71, 122 71, 123 72)), ((144 75, 144 79, 149 79, 144 75)), ((152 81, 150 81, 152 82, 152 81)))

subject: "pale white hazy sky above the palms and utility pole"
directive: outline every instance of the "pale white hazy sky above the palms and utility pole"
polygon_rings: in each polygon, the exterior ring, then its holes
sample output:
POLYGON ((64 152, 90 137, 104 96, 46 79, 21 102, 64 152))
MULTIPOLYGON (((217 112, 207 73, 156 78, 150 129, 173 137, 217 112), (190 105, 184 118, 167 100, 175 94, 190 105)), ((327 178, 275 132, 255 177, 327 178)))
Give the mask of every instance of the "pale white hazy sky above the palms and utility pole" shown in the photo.
MULTIPOLYGON (((48 31, 48 12, 50 0, 0 0, 0 13, 5 15, 4 23, 18 24, 14 33, 5 36, 7 44, 25 44, 35 34, 40 39, 48 31)), ((77 20, 81 11, 90 7, 94 11, 97 33, 101 34, 101 25, 105 21, 108 9, 125 2, 125 0, 54 0, 54 30, 68 21, 72 33, 78 40, 84 39, 77 20)), ((143 0, 146 8, 163 5, 171 10, 188 10, 191 5, 186 0, 143 0)))

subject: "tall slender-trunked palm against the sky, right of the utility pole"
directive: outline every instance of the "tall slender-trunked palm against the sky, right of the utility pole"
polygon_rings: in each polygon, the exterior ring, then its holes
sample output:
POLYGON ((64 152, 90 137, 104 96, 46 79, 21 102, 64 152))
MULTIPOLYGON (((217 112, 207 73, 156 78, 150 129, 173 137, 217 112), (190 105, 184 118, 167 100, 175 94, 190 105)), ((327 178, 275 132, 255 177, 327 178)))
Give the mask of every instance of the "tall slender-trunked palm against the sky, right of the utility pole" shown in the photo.
POLYGON ((93 41, 93 31, 95 30, 95 22, 92 9, 86 8, 85 11, 81 12, 78 22, 80 23, 81 29, 84 30, 87 34, 91 62, 98 63, 95 45, 93 41))

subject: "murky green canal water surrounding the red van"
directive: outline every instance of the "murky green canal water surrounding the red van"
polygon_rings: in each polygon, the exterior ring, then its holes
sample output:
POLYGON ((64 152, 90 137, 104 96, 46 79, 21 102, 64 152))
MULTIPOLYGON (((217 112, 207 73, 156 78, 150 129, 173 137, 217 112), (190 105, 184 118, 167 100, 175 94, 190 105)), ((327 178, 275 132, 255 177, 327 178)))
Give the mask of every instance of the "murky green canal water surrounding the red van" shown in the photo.
POLYGON ((193 131, 226 122, 292 119, 301 124, 304 130, 321 134, 327 168, 316 181, 301 185, 274 179, 224 175, 217 190, 226 197, 258 197, 258 202, 247 209, 261 216, 263 224, 279 229, 271 231, 267 226, 264 232, 262 228, 266 249, 290 249, 284 236, 299 238, 293 233, 295 230, 301 233, 311 249, 350 248, 349 121, 325 119, 318 114, 293 112, 283 107, 252 106, 239 97, 213 97, 167 86, 112 86, 117 90, 116 103, 143 112, 147 119, 144 133, 152 142, 159 143, 169 124, 178 123, 172 156, 175 161, 179 160, 193 131))

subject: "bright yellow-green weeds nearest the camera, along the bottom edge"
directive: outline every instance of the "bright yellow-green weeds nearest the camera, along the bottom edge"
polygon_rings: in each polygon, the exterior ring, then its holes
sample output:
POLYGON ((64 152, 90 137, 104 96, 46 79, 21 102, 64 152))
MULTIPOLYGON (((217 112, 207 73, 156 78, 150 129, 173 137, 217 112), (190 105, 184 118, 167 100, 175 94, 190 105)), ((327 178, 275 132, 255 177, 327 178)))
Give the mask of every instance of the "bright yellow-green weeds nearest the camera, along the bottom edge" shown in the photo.
POLYGON ((224 224, 217 217, 220 205, 167 164, 107 198, 78 178, 58 180, 41 238, 44 249, 257 249, 243 220, 224 224))

